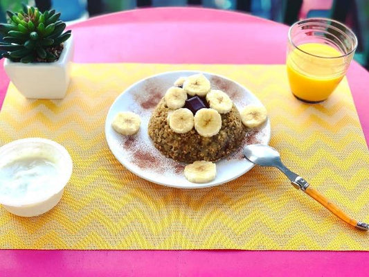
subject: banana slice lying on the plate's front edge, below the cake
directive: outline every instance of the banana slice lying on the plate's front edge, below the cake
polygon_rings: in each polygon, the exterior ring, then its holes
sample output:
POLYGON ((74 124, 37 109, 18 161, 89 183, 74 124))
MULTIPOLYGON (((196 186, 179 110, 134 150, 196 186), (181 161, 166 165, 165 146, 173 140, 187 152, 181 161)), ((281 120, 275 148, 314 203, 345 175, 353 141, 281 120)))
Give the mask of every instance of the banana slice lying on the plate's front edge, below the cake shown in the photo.
POLYGON ((195 161, 184 169, 184 175, 192 183, 208 183, 217 175, 217 166, 211 161, 195 161))

